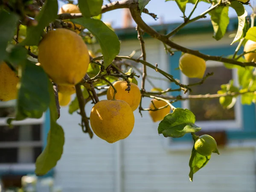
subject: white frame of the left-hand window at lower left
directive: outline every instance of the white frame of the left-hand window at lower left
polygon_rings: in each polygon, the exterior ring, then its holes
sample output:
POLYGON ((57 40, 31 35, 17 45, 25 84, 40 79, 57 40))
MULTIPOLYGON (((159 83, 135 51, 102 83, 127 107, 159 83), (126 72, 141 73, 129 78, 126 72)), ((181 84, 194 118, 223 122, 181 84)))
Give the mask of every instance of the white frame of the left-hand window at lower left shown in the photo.
MULTIPOLYGON (((12 107, 16 103, 16 100, 9 102, 0 102, 0 108, 12 107)), ((0 117, 0 126, 8 125, 6 120, 9 117, 0 117)), ((41 140, 40 141, 21 141, 21 142, 0 142, 0 148, 12 148, 12 147, 42 147, 43 146, 43 134, 44 134, 44 120, 45 114, 40 119, 27 118, 22 121, 12 121, 12 125, 37 125, 41 124, 41 140)), ((35 163, 0 163, 0 172, 32 172, 35 170, 35 163)))

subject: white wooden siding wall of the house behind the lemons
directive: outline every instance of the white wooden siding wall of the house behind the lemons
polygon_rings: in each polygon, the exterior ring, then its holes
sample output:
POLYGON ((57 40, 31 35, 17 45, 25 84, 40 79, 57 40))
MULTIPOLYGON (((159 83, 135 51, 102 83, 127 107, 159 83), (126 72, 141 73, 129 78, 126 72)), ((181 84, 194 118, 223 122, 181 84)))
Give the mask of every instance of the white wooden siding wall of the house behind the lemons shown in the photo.
MULTIPOLYGON (((215 46, 211 35, 194 36, 207 46, 215 46)), ((176 38, 181 44, 195 47, 195 42, 188 37, 176 38)), ((220 42, 228 43, 225 38, 220 42)), ((218 42, 218 43, 220 43, 218 42)), ((168 56, 163 45, 155 40, 146 40, 147 60, 158 64, 168 71, 168 56)), ((200 41, 199 41, 200 44, 200 41)), ((133 49, 139 49, 137 41, 123 41, 120 55, 129 55, 133 49)), ((159 73, 148 69, 148 75, 161 77, 159 73)), ((140 78, 141 79, 141 78, 140 78)), ((154 81, 154 80, 153 80, 154 81)), ((168 83, 154 81, 157 86, 166 88, 168 83)), ((140 86, 140 81, 139 81, 140 86)), ((151 87, 146 84, 146 89, 151 87)), ((106 99, 102 96, 100 99, 106 99)), ((147 108, 150 99, 143 99, 147 108)), ((92 105, 87 107, 89 114, 92 105)), ((189 157, 192 144, 182 150, 166 148, 167 138, 157 133, 157 123, 153 123, 148 112, 143 118, 134 111, 135 126, 125 140, 109 144, 96 135, 92 140, 83 134, 78 122, 80 116, 61 109, 58 122, 65 131, 64 154, 55 168, 55 182, 63 187, 64 192, 255 192, 255 149, 252 145, 220 149, 221 155, 212 155, 206 167, 189 181, 189 157)), ((178 147, 178 146, 177 146, 178 147)))

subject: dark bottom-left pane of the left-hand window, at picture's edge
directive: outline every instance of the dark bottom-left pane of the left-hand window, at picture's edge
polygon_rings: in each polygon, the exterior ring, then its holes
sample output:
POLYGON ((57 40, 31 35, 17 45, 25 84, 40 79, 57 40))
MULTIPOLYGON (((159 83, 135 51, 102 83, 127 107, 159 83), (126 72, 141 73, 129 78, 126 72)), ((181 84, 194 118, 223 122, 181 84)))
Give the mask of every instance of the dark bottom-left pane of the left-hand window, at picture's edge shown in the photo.
POLYGON ((17 163, 17 148, 0 148, 0 163, 17 163))

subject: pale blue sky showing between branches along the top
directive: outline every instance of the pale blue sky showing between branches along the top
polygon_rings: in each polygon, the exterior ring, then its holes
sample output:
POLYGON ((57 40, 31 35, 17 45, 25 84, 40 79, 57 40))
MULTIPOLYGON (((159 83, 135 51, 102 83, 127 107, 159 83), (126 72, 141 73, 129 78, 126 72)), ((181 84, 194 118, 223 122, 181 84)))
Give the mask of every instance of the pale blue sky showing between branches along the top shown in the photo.
MULTIPOLYGON (((113 1, 113 0, 112 0, 113 1)), ((60 6, 63 5, 64 3, 60 3, 60 6)), ((104 0, 104 4, 108 3, 108 0, 104 0)), ((251 0, 252 5, 256 5, 256 0, 251 0)), ((197 9, 195 10, 194 14, 192 17, 197 16, 207 10, 209 8, 208 3, 200 2, 198 4, 197 9)), ((178 8, 177 4, 175 1, 167 1, 165 0, 151 0, 148 5, 146 6, 149 12, 153 12, 154 14, 157 15, 157 17, 161 17, 164 23, 173 23, 173 22, 182 22, 183 18, 182 13, 180 12, 180 9, 178 8)), ((190 11, 192 10, 193 5, 191 3, 188 3, 186 6, 186 15, 189 15, 190 11)), ((249 6, 245 6, 248 15, 251 13, 251 9, 249 6)), ((229 11, 229 16, 230 17, 235 17, 236 12, 230 8, 229 11)), ((152 17, 143 14, 143 19, 146 23, 152 25, 152 24, 159 24, 160 19, 155 21, 152 17)), ((209 19, 209 15, 207 15, 207 18, 209 19)), ((102 15, 102 20, 104 22, 112 22, 112 26, 114 28, 119 28, 122 25, 122 9, 117 9, 111 12, 104 13, 102 15)), ((134 24, 135 25, 135 24, 134 24)))

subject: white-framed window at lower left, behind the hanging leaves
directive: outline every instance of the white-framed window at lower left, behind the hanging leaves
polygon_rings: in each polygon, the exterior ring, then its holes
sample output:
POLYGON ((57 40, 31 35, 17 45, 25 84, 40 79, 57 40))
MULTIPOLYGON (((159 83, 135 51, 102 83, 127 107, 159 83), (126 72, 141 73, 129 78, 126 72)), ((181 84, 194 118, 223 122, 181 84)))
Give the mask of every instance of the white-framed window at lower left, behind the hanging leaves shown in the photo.
POLYGON ((6 119, 15 115, 15 101, 0 102, 0 173, 31 172, 43 148, 41 119, 14 121, 10 128, 6 119))

